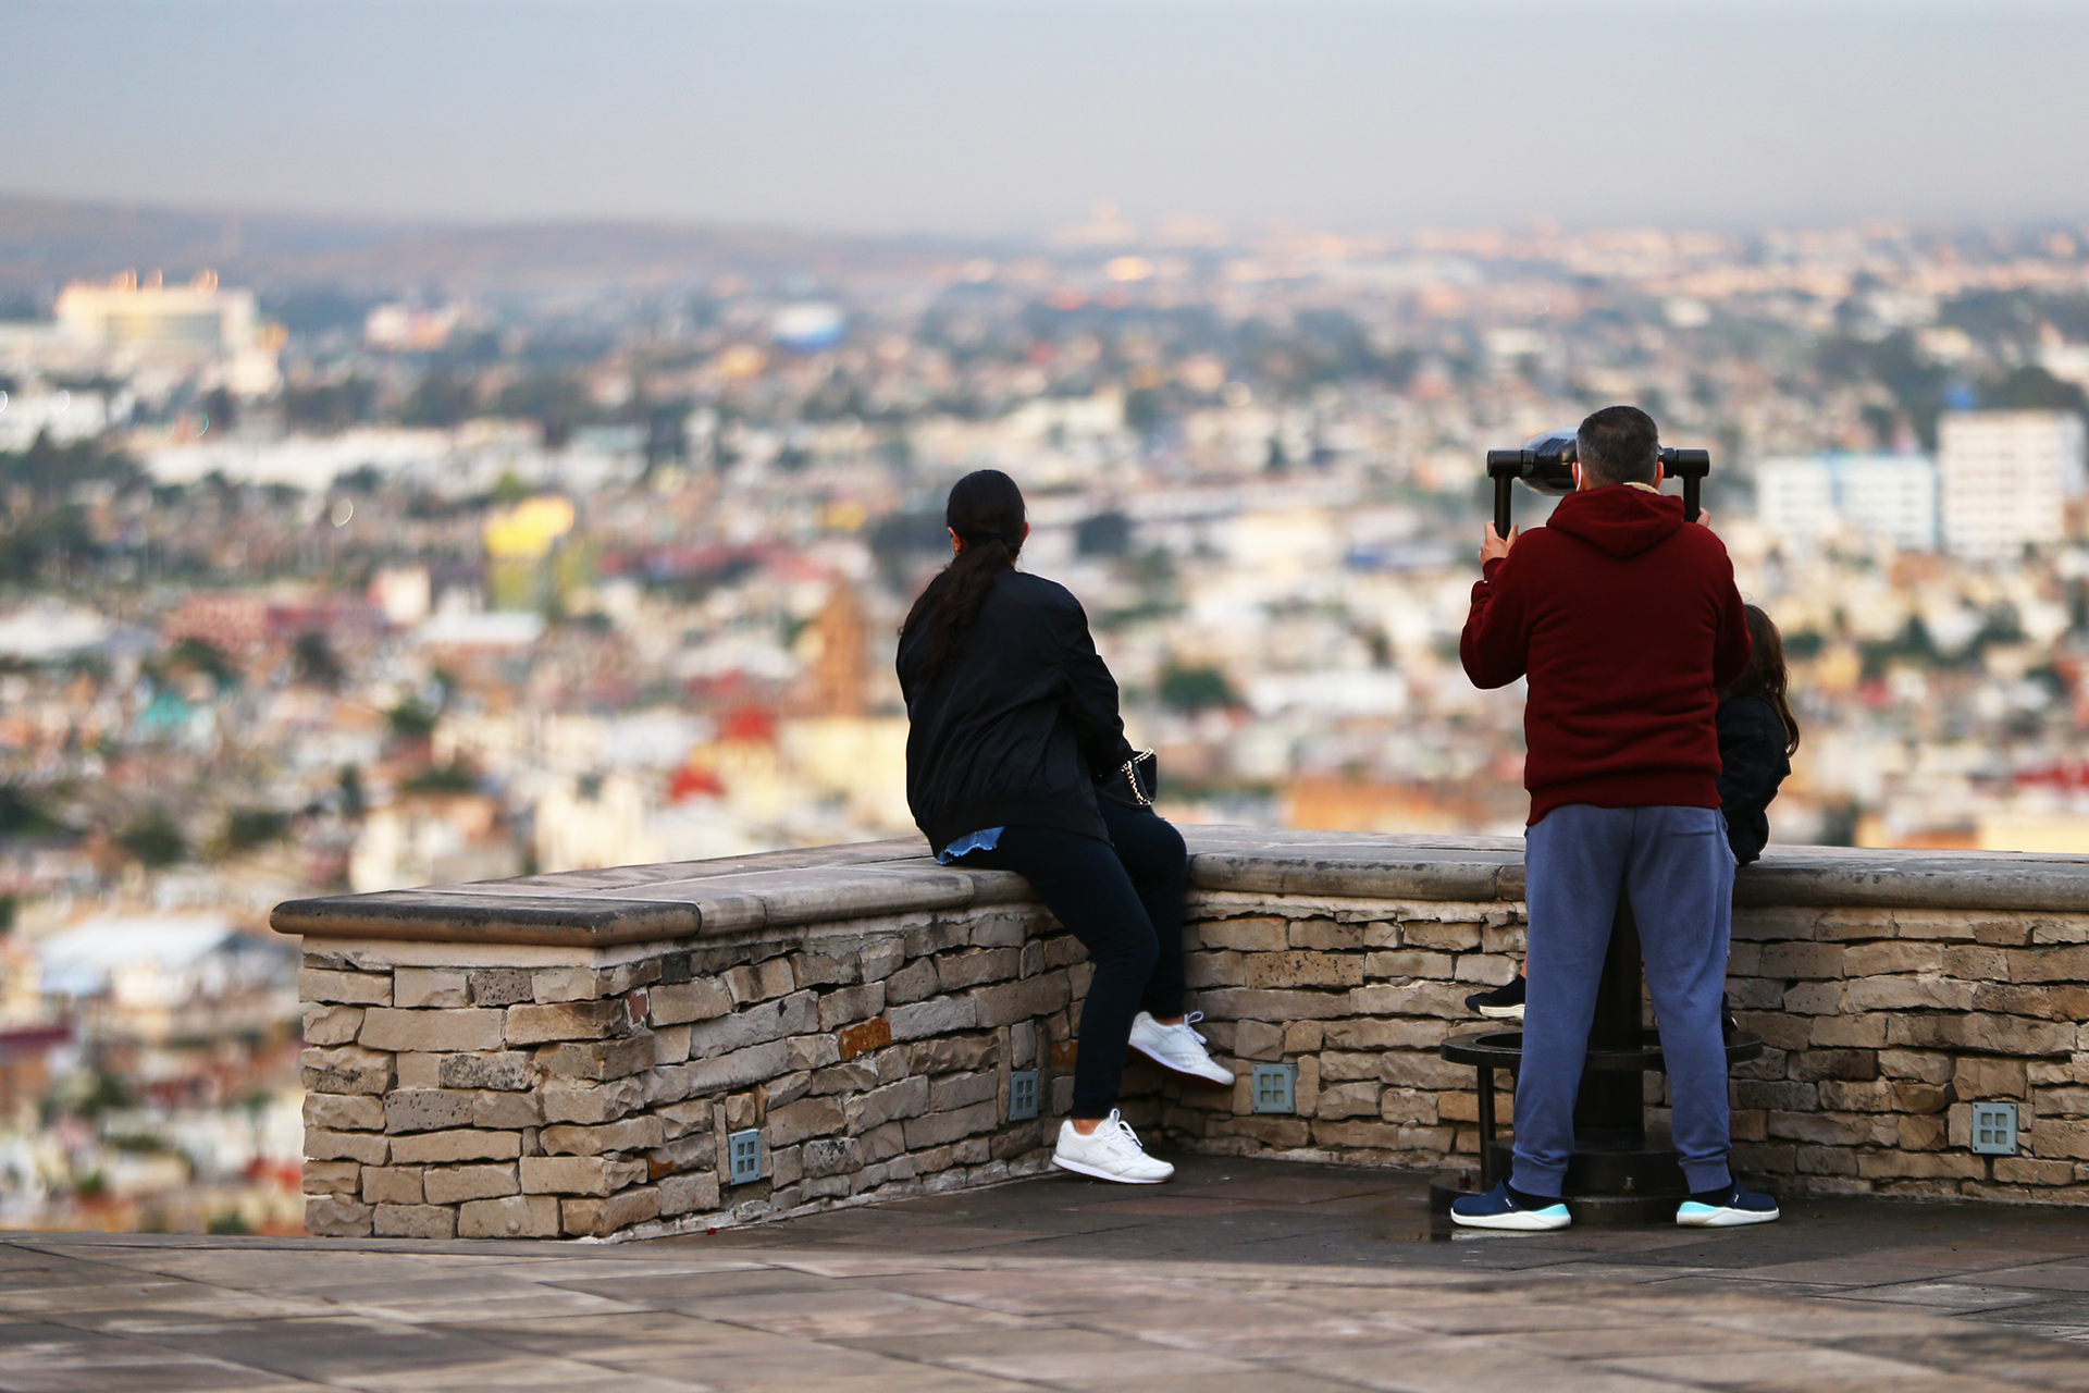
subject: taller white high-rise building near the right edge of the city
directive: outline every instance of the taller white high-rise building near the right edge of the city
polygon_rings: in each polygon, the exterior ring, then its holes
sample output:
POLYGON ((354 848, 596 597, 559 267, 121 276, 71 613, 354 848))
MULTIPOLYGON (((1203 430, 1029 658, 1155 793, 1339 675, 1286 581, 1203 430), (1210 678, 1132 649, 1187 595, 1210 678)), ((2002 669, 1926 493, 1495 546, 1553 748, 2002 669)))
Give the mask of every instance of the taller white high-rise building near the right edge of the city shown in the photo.
POLYGON ((2074 411, 1949 411, 1937 424, 1945 549, 2005 560, 2066 530, 2083 491, 2083 418, 2074 411))

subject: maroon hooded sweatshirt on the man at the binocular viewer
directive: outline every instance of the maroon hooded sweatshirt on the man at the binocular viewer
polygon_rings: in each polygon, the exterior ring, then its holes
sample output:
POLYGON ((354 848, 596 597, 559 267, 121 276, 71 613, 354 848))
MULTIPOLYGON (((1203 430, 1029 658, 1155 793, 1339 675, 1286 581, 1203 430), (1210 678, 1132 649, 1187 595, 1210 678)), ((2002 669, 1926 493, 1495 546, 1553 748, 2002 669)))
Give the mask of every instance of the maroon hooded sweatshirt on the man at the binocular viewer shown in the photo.
POLYGON ((1477 687, 1531 679, 1531 821, 1598 808, 1717 808, 1717 687, 1748 666, 1734 564, 1684 501, 1629 485, 1569 493, 1487 562, 1458 641, 1477 687))

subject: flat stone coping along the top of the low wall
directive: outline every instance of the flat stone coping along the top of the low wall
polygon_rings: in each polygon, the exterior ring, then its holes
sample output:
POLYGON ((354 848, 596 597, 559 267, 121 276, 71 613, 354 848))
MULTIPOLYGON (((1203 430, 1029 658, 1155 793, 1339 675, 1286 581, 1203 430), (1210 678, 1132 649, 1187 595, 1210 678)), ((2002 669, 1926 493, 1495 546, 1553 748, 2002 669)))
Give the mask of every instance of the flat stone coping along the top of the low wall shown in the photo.
MULTIPOLYGON (((1523 898, 1523 837, 1182 825, 1191 886, 1272 898, 1523 898)), ((278 934, 612 946, 836 919, 1011 904, 1019 875, 936 865, 921 837, 558 871, 276 906, 278 934)), ((1748 906, 2089 911, 2089 856, 1774 846, 1738 873, 1748 906)))

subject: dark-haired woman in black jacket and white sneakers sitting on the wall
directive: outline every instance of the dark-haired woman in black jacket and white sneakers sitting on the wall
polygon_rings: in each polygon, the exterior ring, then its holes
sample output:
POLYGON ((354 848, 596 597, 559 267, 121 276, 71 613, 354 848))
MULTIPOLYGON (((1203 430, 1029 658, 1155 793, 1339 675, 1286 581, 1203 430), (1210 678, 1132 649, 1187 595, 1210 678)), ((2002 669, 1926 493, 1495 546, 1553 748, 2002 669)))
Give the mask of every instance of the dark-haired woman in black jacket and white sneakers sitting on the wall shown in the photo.
POLYGON ((1233 1084, 1182 1013, 1182 835, 1151 808, 1097 796, 1132 760, 1118 683, 1080 601, 1015 570, 1030 537, 1015 480, 967 474, 944 522, 950 564, 900 624, 907 802, 938 860, 1015 871, 1095 961, 1053 1165, 1155 1184, 1174 1167, 1116 1107, 1126 1046, 1233 1084))

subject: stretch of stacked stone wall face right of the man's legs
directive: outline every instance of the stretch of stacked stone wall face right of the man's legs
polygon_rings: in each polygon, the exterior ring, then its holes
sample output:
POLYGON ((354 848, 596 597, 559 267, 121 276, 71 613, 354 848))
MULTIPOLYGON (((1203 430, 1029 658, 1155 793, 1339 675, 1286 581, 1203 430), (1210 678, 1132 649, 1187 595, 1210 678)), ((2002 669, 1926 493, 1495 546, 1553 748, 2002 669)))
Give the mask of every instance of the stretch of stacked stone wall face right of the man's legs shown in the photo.
POLYGON ((1746 908, 1734 1155, 1786 1190, 2089 1201, 2089 915, 1746 908), (2014 1157, 1972 1105, 2016 1103, 2014 1157))

